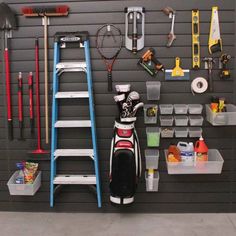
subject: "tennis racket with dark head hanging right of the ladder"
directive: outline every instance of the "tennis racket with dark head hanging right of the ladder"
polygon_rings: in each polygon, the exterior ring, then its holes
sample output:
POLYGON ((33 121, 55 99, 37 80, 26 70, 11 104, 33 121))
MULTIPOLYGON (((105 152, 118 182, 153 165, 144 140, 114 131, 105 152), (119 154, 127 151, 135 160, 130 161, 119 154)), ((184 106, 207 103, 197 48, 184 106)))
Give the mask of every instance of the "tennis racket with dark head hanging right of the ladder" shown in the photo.
POLYGON ((112 24, 105 24, 97 31, 96 46, 107 68, 108 91, 112 91, 112 67, 120 53, 122 42, 120 29, 112 24))

